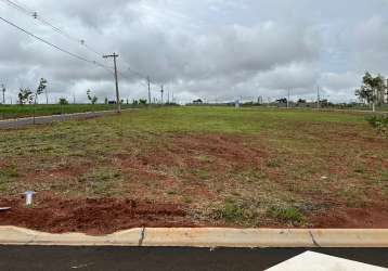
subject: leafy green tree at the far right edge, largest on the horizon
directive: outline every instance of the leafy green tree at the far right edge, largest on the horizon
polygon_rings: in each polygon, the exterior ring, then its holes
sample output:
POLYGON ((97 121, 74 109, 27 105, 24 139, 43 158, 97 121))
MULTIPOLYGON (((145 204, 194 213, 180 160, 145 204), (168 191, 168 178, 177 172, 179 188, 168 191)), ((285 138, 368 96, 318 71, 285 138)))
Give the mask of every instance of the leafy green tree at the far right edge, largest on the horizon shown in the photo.
POLYGON ((370 73, 365 73, 362 78, 362 86, 360 89, 355 90, 355 95, 367 104, 373 105, 373 111, 375 111, 375 105, 378 102, 384 102, 384 95, 386 91, 385 78, 380 75, 373 77, 370 73))

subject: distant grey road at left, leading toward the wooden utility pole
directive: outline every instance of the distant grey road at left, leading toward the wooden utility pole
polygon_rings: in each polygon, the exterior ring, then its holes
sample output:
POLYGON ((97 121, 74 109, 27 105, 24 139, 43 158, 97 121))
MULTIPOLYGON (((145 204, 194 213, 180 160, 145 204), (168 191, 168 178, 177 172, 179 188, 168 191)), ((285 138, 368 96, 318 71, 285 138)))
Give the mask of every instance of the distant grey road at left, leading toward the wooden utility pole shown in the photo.
MULTIPOLYGON (((103 112, 88 112, 88 113, 76 113, 76 114, 66 114, 66 115, 54 115, 54 116, 42 116, 36 117, 35 124, 36 125, 44 125, 51 124, 54 121, 65 121, 65 120, 73 120, 73 119, 88 119, 94 117, 101 117, 106 115, 115 114, 115 111, 103 111, 103 112)), ((0 121, 0 129, 14 129, 14 128, 23 128, 29 125, 34 125, 34 118, 17 118, 17 119, 8 119, 0 121)))

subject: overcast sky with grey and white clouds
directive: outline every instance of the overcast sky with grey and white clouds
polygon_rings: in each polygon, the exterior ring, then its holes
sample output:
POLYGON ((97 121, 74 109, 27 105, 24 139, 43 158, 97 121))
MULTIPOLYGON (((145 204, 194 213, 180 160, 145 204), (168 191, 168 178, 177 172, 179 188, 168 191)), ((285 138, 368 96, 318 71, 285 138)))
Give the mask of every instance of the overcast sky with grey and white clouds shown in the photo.
MULTIPOLYGON (((0 16, 82 57, 105 61, 0 1, 0 16)), ((388 0, 17 0, 83 39, 117 52, 124 99, 147 96, 148 75, 179 101, 354 100, 365 70, 388 76, 388 0), (130 69, 129 69, 130 68, 130 69)), ((0 83, 14 100, 21 87, 49 81, 50 100, 86 101, 91 89, 113 100, 107 70, 70 57, 0 21, 0 83)), ((43 98, 42 98, 43 100, 43 98)))

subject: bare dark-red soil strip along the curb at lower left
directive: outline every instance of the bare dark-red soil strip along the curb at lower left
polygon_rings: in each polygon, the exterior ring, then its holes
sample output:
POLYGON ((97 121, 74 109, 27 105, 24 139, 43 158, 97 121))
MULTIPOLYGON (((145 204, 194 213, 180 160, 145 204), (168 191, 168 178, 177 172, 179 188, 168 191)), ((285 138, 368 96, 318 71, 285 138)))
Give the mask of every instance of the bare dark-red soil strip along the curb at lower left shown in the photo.
POLYGON ((1 225, 65 233, 85 232, 99 235, 138 227, 191 227, 185 211, 176 204, 131 199, 59 199, 46 198, 26 208, 23 199, 2 199, 1 225))

